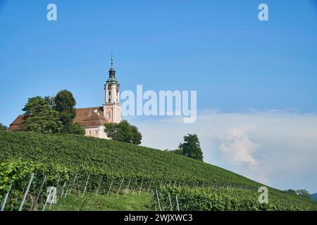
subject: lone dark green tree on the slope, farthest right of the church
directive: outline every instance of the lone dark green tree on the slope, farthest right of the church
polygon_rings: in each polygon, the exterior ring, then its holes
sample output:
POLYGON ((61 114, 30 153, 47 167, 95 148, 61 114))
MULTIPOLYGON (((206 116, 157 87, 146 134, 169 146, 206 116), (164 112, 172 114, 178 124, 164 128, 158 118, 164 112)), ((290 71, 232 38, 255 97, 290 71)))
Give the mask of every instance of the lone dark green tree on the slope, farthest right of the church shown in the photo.
POLYGON ((184 143, 180 143, 178 148, 182 150, 182 155, 196 160, 203 160, 203 153, 197 134, 187 134, 187 136, 184 136, 184 143))

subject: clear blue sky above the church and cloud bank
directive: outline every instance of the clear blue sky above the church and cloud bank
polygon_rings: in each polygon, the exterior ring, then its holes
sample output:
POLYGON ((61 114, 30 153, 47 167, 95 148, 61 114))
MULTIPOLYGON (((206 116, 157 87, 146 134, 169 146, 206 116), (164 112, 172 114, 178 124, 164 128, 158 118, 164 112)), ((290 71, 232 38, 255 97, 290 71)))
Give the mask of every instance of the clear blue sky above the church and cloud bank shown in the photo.
MULTIPOLYGON (((22 113, 27 98, 61 89, 73 92, 78 108, 101 105, 111 51, 122 90, 134 91, 137 84, 155 91, 197 90, 200 112, 281 110, 296 112, 296 118, 317 113, 316 1, 2 0, 0 27, 0 122, 6 125, 22 113), (56 22, 46 20, 49 3, 57 5, 56 22), (258 20, 260 3, 268 4, 267 22, 258 20)), ((134 121, 142 127, 140 120, 134 121)), ((316 127, 315 117, 307 120, 316 127)), ((185 128, 178 142, 189 130, 196 131, 185 128)), ((146 138, 144 144, 157 148, 178 144, 146 138)), ((201 143, 208 146, 209 139, 201 143)), ((206 154, 206 160, 237 169, 220 155, 206 154)), ((241 168, 241 174, 252 175, 241 168)), ((317 182, 307 181, 313 169, 288 186, 271 176, 265 180, 278 188, 317 191, 317 182)))

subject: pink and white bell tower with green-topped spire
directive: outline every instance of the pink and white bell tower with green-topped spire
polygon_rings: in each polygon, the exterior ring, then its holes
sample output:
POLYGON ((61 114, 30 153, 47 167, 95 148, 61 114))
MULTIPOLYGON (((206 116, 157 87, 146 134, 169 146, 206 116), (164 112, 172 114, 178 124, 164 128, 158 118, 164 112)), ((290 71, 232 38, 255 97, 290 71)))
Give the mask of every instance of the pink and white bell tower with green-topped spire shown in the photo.
POLYGON ((108 122, 121 122, 120 84, 116 79, 116 70, 113 68, 113 56, 111 53, 111 68, 109 77, 104 84, 104 117, 108 122))

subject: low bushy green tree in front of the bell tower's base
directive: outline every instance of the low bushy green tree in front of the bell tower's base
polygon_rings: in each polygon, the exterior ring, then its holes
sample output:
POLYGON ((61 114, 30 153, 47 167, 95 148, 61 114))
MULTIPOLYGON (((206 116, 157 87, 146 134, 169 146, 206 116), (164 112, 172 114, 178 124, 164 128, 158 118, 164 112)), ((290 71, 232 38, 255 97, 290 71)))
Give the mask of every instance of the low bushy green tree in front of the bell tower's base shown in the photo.
POLYGON ((120 123, 106 123, 104 131, 107 136, 115 141, 122 141, 125 143, 133 143, 139 145, 141 143, 142 135, 134 125, 123 120, 120 123))

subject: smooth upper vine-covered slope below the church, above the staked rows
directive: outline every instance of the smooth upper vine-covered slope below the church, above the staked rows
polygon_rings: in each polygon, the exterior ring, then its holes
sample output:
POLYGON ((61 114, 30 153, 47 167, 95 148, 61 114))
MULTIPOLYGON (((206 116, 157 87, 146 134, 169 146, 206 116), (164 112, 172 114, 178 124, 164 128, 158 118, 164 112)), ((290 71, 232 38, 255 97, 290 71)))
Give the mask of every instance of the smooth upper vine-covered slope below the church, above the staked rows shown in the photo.
MULTIPOLYGON (((87 136, 0 132, 0 160, 10 158, 54 162, 124 176, 135 174, 156 179, 262 186, 244 176, 182 155, 87 136)), ((302 202, 282 191, 271 191, 279 198, 302 202)))

